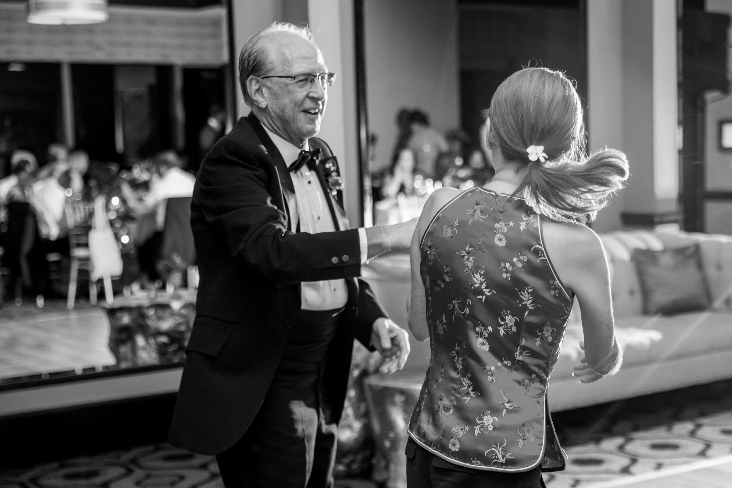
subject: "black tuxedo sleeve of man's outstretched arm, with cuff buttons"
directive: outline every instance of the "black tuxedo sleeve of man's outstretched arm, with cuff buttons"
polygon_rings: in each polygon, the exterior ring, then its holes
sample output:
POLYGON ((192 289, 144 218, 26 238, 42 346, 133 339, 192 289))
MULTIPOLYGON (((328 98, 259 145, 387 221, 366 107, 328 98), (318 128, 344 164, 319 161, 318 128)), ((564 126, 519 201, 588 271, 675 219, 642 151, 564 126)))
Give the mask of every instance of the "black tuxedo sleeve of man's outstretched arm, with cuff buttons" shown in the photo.
MULTIPOLYGON (((287 215, 269 193, 279 185, 270 179, 243 144, 231 140, 217 144, 198 172, 193 228, 203 225, 204 230, 218 233, 236 260, 272 285, 360 276, 358 230, 316 234, 287 230, 287 215)), ((275 196, 283 201, 282 195, 275 196)))

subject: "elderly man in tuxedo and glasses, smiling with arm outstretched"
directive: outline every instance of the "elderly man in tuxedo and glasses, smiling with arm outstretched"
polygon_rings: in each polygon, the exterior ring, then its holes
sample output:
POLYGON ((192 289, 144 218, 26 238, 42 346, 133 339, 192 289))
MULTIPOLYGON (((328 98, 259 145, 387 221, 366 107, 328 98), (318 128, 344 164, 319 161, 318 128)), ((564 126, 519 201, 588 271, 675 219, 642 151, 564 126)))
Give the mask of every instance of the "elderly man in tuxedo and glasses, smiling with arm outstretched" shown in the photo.
POLYGON ((242 48, 249 116, 195 182, 200 282, 170 442, 216 454, 225 486, 331 487, 354 338, 403 367, 408 336, 360 279, 408 249, 415 222, 348 230, 337 160, 318 138, 328 72, 307 28, 242 48))

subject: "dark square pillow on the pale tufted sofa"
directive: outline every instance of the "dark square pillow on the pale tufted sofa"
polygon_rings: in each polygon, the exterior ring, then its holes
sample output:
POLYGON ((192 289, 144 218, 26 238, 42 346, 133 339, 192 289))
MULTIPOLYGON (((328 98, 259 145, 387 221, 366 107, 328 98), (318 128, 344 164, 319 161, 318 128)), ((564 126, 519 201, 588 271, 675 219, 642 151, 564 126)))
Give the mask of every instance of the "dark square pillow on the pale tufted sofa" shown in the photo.
POLYGON ((679 249, 633 249, 643 295, 643 313, 668 315, 712 305, 699 244, 679 249))

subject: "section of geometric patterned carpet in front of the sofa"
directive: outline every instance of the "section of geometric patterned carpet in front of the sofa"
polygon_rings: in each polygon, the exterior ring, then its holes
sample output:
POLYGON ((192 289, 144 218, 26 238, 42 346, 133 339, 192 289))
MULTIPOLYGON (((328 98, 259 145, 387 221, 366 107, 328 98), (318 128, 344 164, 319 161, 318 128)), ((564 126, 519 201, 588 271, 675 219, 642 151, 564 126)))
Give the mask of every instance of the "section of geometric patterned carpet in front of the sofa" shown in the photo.
POLYGON ((569 461, 548 488, 598 482, 732 454, 732 380, 553 415, 569 461))

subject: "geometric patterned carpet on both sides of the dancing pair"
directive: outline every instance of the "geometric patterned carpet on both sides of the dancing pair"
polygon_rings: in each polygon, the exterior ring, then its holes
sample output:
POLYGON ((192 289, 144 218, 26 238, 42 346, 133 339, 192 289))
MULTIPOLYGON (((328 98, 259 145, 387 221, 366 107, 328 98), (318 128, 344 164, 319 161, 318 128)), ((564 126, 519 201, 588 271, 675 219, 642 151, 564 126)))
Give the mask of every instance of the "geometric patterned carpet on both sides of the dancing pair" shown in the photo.
MULTIPOLYGON (((732 453, 732 381, 556 414, 567 470, 548 488, 591 488, 732 453), (622 420, 620 420, 622 419, 622 420)), ((0 488, 223 488, 213 457, 141 446, 0 473, 0 488)), ((370 488, 341 480, 339 488, 370 488)))

